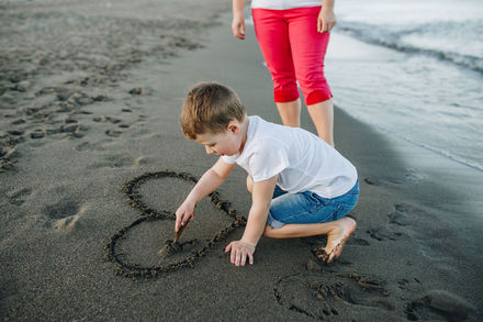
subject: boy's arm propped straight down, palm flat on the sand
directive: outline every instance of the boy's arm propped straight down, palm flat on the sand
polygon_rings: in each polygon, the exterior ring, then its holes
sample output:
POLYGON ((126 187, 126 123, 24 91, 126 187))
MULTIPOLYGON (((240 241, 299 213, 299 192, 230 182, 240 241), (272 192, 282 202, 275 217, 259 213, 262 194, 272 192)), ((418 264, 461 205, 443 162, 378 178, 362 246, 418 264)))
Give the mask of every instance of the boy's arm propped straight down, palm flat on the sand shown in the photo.
POLYGON ((231 262, 236 266, 244 266, 247 257, 249 263, 254 264, 255 246, 265 231, 278 177, 277 175, 270 179, 254 182, 251 192, 252 203, 245 233, 242 240, 232 242, 225 248, 225 252, 232 252, 231 262))

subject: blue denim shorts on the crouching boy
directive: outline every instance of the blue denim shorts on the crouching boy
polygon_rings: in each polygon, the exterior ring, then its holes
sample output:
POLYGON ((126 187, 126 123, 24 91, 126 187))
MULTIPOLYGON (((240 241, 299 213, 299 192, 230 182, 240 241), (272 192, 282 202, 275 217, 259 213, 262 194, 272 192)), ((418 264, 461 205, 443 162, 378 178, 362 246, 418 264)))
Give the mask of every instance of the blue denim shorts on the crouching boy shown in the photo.
POLYGON ((359 180, 340 197, 324 198, 311 191, 288 193, 276 186, 267 223, 280 229, 288 223, 322 223, 341 219, 357 204, 359 180))

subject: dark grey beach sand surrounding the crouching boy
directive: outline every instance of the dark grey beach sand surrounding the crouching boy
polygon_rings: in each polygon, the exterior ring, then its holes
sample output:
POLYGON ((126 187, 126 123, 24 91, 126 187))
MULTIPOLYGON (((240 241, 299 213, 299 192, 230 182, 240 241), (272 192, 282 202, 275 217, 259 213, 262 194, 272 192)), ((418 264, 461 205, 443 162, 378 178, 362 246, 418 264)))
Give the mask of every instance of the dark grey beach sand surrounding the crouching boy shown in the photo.
MULTIPOLYGON (((179 131, 186 91, 216 80, 280 122, 252 27, 234 40, 225 2, 0 4, 0 320, 481 321, 483 175, 339 109, 361 197, 337 262, 315 257, 324 237, 263 237, 255 265, 229 264, 240 168, 158 255, 216 160, 179 131)), ((378 55, 335 32, 327 64, 378 55)))

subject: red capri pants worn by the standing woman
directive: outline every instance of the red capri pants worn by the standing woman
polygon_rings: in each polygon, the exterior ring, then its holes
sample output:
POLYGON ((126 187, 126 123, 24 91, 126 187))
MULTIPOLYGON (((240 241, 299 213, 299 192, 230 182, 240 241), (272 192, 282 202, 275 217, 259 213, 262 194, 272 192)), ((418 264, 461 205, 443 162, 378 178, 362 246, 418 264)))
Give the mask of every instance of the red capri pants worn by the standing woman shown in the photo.
POLYGON ((333 97, 324 77, 330 34, 317 32, 319 11, 321 7, 251 10, 258 44, 272 75, 276 102, 296 100, 296 81, 307 106, 333 97))

